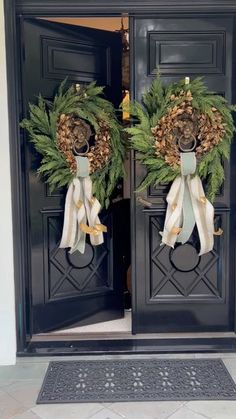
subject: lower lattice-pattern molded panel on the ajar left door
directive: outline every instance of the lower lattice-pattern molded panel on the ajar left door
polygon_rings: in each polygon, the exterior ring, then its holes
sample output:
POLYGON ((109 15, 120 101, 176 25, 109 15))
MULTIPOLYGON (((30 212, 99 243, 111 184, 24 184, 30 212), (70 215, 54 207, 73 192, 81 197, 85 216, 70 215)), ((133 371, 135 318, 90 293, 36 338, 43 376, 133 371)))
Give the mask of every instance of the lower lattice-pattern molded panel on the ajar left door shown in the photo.
POLYGON ((112 290, 106 240, 93 248, 87 243, 85 253, 70 255, 60 249, 63 211, 41 211, 43 216, 45 302, 89 294, 103 294, 112 290), (104 260, 107 263, 104 266, 104 260))

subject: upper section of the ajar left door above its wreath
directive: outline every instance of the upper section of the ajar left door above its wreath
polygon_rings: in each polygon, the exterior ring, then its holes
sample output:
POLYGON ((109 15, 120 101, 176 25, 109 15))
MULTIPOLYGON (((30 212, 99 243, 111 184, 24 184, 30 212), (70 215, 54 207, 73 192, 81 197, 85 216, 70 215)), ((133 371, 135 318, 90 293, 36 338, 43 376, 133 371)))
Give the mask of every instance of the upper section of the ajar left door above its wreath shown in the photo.
POLYGON ((77 83, 97 80, 105 86, 106 97, 119 106, 122 44, 118 33, 37 19, 24 20, 22 31, 25 97, 38 94, 37 84, 43 96, 52 97, 67 77, 77 83))

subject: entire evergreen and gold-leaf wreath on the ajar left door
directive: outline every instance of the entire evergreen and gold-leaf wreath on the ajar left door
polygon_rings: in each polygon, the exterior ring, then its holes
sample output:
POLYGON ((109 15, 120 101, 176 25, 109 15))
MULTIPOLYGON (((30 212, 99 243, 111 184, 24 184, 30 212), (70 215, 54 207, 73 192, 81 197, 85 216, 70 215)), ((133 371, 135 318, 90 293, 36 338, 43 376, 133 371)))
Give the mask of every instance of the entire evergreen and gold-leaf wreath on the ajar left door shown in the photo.
POLYGON ((77 170, 73 150, 79 151, 92 135, 93 145, 86 155, 93 193, 107 208, 118 179, 124 175, 122 127, 113 105, 102 97, 103 87, 92 82, 66 88, 66 82, 52 101, 39 95, 37 104, 29 104, 29 119, 24 119, 21 127, 42 155, 38 173, 50 191, 69 186, 77 170))

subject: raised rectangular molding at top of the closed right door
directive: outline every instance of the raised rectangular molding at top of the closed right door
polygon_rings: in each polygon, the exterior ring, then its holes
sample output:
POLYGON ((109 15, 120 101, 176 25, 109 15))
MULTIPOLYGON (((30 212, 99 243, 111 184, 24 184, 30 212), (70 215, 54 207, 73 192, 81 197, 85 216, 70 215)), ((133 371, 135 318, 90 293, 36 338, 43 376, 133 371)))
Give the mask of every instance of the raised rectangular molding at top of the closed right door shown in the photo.
POLYGON ((149 76, 225 72, 224 32, 149 32, 148 51, 149 76))

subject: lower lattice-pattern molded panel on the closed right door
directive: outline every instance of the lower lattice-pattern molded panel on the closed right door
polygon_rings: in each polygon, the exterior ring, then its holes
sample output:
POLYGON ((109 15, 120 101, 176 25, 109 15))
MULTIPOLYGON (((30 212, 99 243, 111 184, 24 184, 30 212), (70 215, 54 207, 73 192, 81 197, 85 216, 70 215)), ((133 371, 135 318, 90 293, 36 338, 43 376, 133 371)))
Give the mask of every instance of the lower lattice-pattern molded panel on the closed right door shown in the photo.
MULTIPOLYGON (((147 304, 176 303, 182 301, 222 304, 225 299, 227 267, 224 260, 225 238, 216 236, 214 249, 198 256, 199 243, 196 231, 187 244, 177 244, 175 249, 160 246, 160 231, 163 229, 165 214, 148 216, 149 248, 148 270, 150 282, 147 284, 147 304)), ((227 234, 226 213, 215 217, 217 226, 227 234)), ((148 275, 148 274, 147 274, 148 275)))

